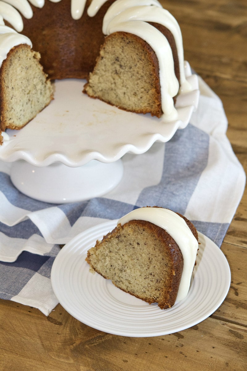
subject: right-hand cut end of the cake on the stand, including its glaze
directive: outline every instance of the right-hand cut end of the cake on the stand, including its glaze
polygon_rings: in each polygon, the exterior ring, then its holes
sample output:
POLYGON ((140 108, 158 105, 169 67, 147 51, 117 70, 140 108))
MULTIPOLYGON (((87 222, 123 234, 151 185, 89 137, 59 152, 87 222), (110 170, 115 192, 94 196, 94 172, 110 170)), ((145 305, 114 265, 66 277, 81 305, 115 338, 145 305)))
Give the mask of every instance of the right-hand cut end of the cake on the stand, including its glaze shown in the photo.
POLYGON ((126 111, 176 120, 176 97, 191 90, 176 19, 156 0, 119 0, 104 16, 103 33, 84 93, 126 111))

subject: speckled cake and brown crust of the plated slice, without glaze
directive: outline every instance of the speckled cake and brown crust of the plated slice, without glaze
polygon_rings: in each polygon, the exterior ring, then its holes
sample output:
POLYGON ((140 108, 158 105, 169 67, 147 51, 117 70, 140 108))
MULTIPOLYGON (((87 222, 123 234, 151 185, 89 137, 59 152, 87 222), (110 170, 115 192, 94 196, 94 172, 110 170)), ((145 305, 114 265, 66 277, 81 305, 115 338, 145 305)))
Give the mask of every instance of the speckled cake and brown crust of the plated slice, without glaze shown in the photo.
MULTIPOLYGON (((196 228, 183 219, 198 240, 196 228)), ((88 251, 86 261, 104 278, 139 299, 157 302, 161 309, 175 303, 183 256, 173 238, 150 222, 119 224, 88 251)))

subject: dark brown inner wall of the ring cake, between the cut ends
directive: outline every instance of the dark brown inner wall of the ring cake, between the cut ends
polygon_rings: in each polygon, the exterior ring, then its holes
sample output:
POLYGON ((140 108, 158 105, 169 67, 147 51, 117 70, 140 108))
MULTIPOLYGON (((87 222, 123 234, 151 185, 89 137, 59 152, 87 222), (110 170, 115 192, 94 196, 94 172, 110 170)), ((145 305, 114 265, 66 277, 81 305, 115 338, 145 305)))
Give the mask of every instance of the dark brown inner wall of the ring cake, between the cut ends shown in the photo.
POLYGON ((79 20, 71 17, 71 0, 46 0, 41 9, 30 4, 33 17, 23 17, 21 33, 30 38, 33 50, 39 51, 44 72, 51 79, 84 79, 93 70, 104 41, 103 17, 113 0, 107 1, 94 17, 87 15, 90 3, 87 0, 79 20))

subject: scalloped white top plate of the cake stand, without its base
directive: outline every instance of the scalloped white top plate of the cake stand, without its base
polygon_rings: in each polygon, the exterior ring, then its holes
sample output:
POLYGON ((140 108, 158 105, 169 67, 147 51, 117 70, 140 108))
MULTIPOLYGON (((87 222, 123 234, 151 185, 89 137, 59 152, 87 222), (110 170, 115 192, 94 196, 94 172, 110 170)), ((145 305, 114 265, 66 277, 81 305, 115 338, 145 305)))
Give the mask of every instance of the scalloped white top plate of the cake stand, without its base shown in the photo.
POLYGON ((155 141, 167 142, 178 128, 188 125, 198 104, 197 75, 185 63, 193 90, 177 97, 178 119, 163 122, 151 115, 134 114, 89 98, 86 81, 55 81, 54 100, 21 130, 8 129, 0 146, 0 160, 25 160, 34 166, 61 162, 79 167, 91 160, 114 162, 127 152, 141 154, 155 141))

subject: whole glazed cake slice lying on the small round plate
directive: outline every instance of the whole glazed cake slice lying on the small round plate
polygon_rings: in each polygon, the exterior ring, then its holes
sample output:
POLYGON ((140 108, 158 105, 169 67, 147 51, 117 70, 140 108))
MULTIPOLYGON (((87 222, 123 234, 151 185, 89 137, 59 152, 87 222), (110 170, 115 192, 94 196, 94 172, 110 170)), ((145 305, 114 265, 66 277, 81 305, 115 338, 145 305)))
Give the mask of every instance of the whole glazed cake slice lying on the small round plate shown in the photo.
POLYGON ((86 261, 121 290, 167 309, 186 297, 197 249, 196 228, 185 217, 144 207, 121 218, 86 261))

